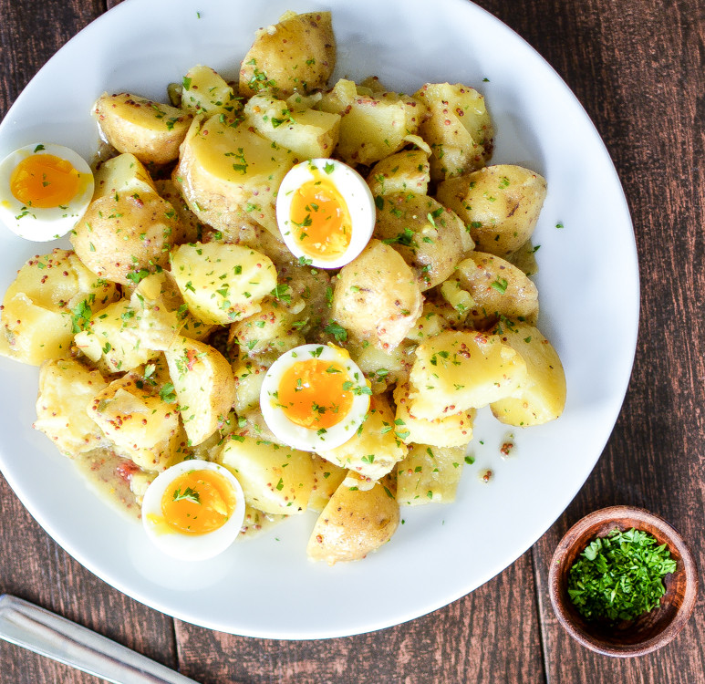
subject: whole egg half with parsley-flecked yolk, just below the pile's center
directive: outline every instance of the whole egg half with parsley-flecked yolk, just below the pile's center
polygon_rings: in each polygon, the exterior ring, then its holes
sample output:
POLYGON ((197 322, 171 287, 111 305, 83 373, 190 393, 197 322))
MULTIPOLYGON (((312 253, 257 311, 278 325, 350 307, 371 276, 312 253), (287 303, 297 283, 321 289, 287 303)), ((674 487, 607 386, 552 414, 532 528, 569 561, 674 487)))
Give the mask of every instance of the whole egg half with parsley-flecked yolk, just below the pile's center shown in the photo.
POLYGON ((277 439, 301 451, 328 451, 362 425, 370 394, 365 376, 344 349, 301 345, 267 370, 260 407, 277 439))

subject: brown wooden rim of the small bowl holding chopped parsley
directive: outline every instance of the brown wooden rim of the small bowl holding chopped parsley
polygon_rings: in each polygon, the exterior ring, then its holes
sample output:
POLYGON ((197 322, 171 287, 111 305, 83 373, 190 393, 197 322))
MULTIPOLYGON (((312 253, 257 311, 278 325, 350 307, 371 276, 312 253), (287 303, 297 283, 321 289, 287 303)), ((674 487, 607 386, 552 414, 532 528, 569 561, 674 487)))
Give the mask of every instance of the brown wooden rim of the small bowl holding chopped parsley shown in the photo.
POLYGON ((551 566, 548 572, 548 591, 551 598, 551 605, 558 621, 565 627, 568 634, 584 647, 589 648, 603 656, 614 658, 633 658, 644 656, 658 648, 666 646, 685 627, 689 617, 695 607, 698 596, 698 569, 693 555, 690 553, 688 544, 679 532, 666 520, 650 513, 644 508, 636 506, 608 506, 593 513, 588 513, 585 517, 577 521, 563 536, 555 547, 555 552, 551 559, 551 566), (592 528, 598 528, 606 523, 614 522, 620 524, 626 519, 636 520, 640 523, 650 524, 657 528, 669 541, 669 549, 676 549, 683 561, 682 572, 685 575, 685 594, 683 602, 678 612, 657 635, 650 637, 636 644, 624 646, 614 646, 588 634, 582 627, 575 624, 573 616, 565 606, 564 593, 561 591, 561 564, 568 551, 572 550, 580 537, 592 528))

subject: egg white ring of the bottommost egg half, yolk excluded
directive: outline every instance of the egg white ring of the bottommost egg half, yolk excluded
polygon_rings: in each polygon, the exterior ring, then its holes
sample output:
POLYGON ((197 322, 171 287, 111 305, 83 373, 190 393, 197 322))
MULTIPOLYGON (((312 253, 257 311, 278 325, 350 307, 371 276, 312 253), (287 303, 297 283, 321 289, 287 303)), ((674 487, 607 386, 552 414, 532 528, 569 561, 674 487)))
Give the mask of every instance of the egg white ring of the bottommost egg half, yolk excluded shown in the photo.
POLYGON ((224 466, 211 461, 181 461, 161 472, 151 482, 142 500, 142 525, 150 541, 165 554, 184 561, 202 561, 223 553, 240 532, 244 522, 244 493, 240 482, 224 466), (226 523, 206 534, 183 534, 163 523, 161 498, 177 477, 190 471, 216 471, 231 484, 235 510, 226 523))

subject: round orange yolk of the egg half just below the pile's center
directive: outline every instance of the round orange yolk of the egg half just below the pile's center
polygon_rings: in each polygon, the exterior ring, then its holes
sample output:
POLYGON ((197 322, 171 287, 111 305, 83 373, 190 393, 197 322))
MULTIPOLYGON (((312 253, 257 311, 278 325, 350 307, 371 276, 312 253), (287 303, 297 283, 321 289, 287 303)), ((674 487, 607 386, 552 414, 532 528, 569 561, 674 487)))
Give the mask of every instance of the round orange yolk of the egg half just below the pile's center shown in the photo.
POLYGON ((285 370, 277 391, 286 418, 309 430, 325 430, 352 408, 352 383, 337 363, 309 358, 285 370))

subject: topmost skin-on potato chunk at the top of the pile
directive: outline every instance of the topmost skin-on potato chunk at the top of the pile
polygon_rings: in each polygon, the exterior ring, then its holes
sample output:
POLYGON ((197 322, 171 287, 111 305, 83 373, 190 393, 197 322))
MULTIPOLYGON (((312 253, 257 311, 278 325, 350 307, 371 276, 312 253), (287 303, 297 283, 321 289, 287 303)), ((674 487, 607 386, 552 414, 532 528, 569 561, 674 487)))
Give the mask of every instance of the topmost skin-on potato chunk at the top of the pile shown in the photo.
POLYGON ((336 67, 330 12, 287 12, 274 26, 260 28, 240 68, 240 94, 263 88, 279 97, 326 88, 336 67))

